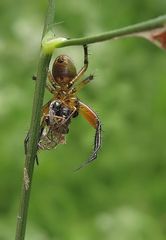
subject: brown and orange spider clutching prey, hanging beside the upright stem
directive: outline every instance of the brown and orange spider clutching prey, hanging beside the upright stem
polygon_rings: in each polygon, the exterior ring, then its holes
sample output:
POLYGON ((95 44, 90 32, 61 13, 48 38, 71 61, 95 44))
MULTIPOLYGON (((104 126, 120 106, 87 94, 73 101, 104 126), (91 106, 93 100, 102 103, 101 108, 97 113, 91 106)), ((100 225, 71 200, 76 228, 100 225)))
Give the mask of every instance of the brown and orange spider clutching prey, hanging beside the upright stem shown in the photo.
MULTIPOLYGON (((82 115, 96 129, 96 133, 93 152, 78 169, 95 160, 101 147, 100 120, 97 114, 76 96, 76 93, 93 79, 93 75, 89 75, 81 80, 87 68, 88 49, 86 45, 84 45, 84 66, 78 73, 67 55, 60 55, 55 59, 52 72, 48 71, 46 84, 46 88, 53 94, 53 98, 42 108, 38 142, 38 150, 49 150, 58 144, 64 144, 72 118, 79 114, 82 115)), ((26 143, 27 139, 25 145, 26 143)))

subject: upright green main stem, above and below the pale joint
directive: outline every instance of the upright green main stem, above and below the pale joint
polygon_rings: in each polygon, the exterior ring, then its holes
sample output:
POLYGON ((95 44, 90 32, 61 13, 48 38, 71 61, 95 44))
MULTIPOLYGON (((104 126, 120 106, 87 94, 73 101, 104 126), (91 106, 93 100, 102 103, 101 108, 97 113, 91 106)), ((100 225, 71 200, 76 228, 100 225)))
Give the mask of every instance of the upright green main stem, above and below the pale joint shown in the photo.
MULTIPOLYGON (((48 31, 49 26, 54 22, 55 0, 49 0, 48 11, 44 24, 43 35, 48 31)), ((40 129, 41 108, 44 98, 47 69, 51 55, 41 53, 38 63, 37 81, 33 100, 32 118, 29 130, 29 141, 24 165, 24 177, 22 183, 20 208, 17 216, 16 240, 24 240, 28 206, 32 185, 33 169, 37 153, 38 136, 40 129)))

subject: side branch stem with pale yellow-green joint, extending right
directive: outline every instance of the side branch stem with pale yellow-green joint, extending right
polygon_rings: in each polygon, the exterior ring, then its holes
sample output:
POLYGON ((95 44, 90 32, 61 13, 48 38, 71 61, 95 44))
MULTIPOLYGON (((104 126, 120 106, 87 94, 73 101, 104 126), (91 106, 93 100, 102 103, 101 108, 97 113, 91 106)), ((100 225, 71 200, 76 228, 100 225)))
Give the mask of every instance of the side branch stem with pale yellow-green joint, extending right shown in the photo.
POLYGON ((101 33, 95 36, 82 37, 82 38, 73 38, 73 39, 64 39, 64 38, 55 38, 51 36, 48 32, 42 42, 42 49, 45 53, 53 52, 54 48, 61 48, 73 45, 84 45, 92 44, 102 41, 107 41, 111 39, 117 39, 120 37, 133 36, 141 32, 151 31, 154 29, 159 29, 166 27, 166 15, 148 20, 142 23, 134 24, 117 30, 101 33))

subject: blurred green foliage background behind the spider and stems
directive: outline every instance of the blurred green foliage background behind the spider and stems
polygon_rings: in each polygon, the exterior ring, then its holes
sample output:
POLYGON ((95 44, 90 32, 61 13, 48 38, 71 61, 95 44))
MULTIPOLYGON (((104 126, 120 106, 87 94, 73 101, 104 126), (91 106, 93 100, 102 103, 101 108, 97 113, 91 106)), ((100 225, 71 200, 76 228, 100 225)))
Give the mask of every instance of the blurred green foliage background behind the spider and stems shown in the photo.
MULTIPOLYGON (((86 36, 165 14, 163 0, 56 1, 57 36, 86 36)), ((47 1, 0 1, 0 240, 14 239, 47 1)), ((166 53, 143 39, 91 45, 80 99, 99 115, 97 161, 77 173, 94 130, 73 119, 67 144, 40 152, 29 240, 166 239, 166 53)), ((83 64, 81 47, 59 49, 83 64)), ((46 99, 50 94, 46 93, 46 99)))

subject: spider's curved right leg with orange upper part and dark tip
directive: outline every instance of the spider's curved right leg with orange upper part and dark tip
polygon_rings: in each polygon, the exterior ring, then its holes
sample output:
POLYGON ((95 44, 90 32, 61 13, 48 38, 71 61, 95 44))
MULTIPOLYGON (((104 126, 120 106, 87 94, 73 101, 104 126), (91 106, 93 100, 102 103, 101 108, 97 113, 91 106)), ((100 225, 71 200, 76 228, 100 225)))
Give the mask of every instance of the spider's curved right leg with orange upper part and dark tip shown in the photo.
POLYGON ((97 114, 86 104, 79 102, 79 113, 88 121, 88 123, 96 129, 95 139, 94 139, 94 148, 93 152, 90 155, 89 159, 81 164, 80 167, 76 169, 79 170, 82 167, 86 166, 90 162, 94 161, 97 158, 97 153, 101 147, 101 122, 97 114))

